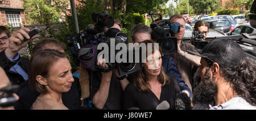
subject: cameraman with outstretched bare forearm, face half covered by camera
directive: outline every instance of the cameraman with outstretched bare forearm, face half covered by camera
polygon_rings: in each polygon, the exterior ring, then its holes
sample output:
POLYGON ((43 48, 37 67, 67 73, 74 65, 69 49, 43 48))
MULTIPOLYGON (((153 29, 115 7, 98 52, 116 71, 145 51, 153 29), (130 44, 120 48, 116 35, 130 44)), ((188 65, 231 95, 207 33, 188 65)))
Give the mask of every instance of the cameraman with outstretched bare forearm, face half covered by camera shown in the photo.
POLYGON ((176 33, 171 33, 172 37, 177 38, 177 53, 166 55, 167 57, 174 58, 182 79, 185 81, 185 84, 188 85, 189 89, 192 90, 193 84, 193 67, 200 66, 200 59, 197 55, 188 54, 187 50, 196 52, 195 46, 183 42, 182 38, 185 33, 185 19, 182 15, 173 15, 170 18, 170 23, 179 23, 180 29, 176 33))

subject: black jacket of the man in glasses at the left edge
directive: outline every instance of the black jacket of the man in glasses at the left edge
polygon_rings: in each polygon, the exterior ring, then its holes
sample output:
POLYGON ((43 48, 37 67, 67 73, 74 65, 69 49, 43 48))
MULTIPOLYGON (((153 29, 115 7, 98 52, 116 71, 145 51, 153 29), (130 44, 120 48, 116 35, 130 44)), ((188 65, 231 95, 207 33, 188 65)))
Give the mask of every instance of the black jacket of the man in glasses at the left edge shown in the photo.
POLYGON ((20 67, 22 67, 22 69, 27 72, 27 68, 28 68, 28 62, 29 59, 28 58, 21 58, 19 57, 18 60, 16 60, 15 62, 11 62, 5 55, 5 51, 1 51, 0 52, 0 66, 3 68, 3 70, 5 70, 6 75, 9 77, 9 80, 11 81, 11 83, 13 84, 22 84, 25 80, 23 79, 22 75, 10 71, 10 68, 13 67, 16 63, 19 64, 20 67))

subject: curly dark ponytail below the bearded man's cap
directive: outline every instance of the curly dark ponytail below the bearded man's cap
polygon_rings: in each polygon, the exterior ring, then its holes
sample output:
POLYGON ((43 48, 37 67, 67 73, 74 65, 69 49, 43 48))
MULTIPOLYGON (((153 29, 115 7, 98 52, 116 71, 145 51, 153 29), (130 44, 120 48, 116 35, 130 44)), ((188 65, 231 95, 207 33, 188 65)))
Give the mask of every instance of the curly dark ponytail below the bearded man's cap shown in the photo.
POLYGON ((242 60, 234 69, 220 67, 222 76, 230 84, 237 94, 256 106, 256 64, 248 59, 242 60))

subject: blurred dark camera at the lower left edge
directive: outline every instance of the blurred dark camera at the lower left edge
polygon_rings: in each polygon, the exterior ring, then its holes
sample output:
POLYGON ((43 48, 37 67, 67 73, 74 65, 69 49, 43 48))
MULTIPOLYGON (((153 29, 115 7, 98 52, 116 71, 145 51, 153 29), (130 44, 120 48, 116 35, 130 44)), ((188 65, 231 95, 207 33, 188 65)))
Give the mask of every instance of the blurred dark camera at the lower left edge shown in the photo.
POLYGON ((16 102, 15 97, 13 96, 13 93, 18 89, 18 85, 7 85, 6 87, 3 87, 0 89, 0 92, 2 92, 2 95, 0 96, 0 107, 9 107, 13 106, 16 102))

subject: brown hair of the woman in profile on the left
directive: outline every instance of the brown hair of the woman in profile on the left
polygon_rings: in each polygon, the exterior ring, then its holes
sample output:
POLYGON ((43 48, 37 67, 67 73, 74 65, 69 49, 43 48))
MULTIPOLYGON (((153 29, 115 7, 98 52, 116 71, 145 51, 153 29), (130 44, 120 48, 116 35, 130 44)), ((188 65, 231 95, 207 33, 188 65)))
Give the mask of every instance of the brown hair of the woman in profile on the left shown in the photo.
POLYGON ((48 72, 51 69, 52 64, 57 62, 60 58, 67 58, 66 54, 51 49, 42 50, 39 51, 38 54, 32 55, 27 73, 28 84, 30 87, 40 93, 47 93, 46 87, 38 83, 36 76, 41 75, 43 77, 48 77, 48 72))

